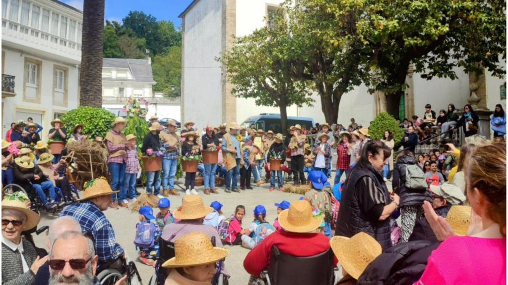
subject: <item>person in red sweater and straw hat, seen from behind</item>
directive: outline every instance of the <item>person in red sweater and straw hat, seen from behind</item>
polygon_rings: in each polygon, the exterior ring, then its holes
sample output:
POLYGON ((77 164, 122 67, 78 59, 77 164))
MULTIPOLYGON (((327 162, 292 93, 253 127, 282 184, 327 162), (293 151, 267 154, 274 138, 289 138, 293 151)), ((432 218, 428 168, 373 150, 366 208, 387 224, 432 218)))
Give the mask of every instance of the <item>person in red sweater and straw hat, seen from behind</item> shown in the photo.
POLYGON ((257 279, 268 267, 273 246, 278 247, 284 254, 296 257, 309 257, 328 251, 330 240, 325 235, 316 233, 323 218, 312 215, 312 206, 306 200, 293 202, 289 209, 281 211, 278 221, 282 229, 267 236, 243 261, 243 267, 251 275, 251 281, 257 279))

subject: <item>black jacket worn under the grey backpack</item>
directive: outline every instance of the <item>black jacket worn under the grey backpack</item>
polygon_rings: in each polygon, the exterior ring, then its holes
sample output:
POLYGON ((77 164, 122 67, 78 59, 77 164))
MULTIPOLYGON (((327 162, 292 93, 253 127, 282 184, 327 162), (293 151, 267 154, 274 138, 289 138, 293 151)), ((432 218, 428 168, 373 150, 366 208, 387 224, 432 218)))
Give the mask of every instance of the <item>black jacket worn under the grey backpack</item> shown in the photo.
POLYGON ((399 206, 423 205, 425 200, 430 201, 430 191, 412 191, 405 187, 406 166, 408 164, 416 164, 415 158, 405 156, 395 164, 393 167, 392 188, 395 190, 395 193, 400 196, 399 206))

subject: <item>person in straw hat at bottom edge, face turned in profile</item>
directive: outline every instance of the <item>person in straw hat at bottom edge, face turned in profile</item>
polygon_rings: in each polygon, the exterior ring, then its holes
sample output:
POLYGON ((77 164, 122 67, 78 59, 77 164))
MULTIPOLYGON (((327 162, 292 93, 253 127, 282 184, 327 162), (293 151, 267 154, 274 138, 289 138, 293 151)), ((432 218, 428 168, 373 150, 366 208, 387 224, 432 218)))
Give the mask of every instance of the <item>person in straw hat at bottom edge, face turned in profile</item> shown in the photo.
POLYGON ((189 233, 175 241, 175 257, 162 265, 172 268, 164 284, 212 284, 215 275, 219 274, 217 262, 226 259, 228 253, 225 248, 214 247, 207 234, 189 233))

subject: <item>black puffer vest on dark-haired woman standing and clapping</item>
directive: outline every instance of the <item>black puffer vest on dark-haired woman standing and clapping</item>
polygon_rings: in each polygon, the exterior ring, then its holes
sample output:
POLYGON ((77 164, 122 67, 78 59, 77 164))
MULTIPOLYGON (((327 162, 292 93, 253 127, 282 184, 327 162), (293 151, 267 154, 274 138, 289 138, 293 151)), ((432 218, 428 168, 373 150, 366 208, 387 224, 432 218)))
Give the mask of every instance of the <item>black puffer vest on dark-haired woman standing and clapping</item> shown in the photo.
POLYGON ((374 167, 369 166, 368 169, 354 167, 344 182, 335 235, 352 237, 359 232, 365 232, 374 237, 385 250, 392 246, 390 219, 372 221, 368 213, 362 210, 358 193, 368 189, 359 187, 358 181, 364 176, 369 176, 374 181, 375 187, 383 191, 387 203, 391 202, 383 176, 375 171, 374 167))

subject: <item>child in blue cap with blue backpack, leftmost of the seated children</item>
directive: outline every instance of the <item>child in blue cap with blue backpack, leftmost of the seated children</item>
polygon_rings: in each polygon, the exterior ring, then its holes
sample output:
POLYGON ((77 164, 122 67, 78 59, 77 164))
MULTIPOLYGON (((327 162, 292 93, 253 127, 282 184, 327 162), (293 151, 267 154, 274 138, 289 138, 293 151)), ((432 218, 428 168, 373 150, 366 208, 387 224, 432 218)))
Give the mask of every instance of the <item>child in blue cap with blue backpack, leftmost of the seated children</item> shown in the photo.
POLYGON ((139 251, 139 259, 148 266, 153 266, 153 260, 158 258, 158 244, 155 242, 158 235, 153 217, 153 211, 150 206, 143 206, 139 209, 139 221, 136 224, 136 238, 134 244, 139 251), (152 222, 151 222, 152 221, 152 222))

